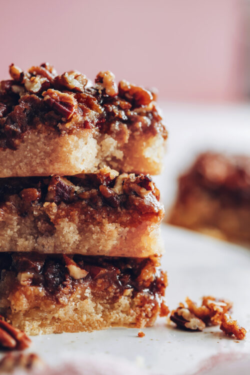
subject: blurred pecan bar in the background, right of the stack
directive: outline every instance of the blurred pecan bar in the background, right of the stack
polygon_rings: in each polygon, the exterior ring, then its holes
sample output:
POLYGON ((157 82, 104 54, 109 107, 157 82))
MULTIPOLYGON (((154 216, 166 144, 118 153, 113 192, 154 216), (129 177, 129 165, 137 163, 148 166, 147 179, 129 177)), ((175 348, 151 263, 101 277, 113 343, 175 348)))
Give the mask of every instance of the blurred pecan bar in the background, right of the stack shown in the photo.
POLYGON ((179 178, 168 221, 250 243, 250 157, 199 155, 179 178))

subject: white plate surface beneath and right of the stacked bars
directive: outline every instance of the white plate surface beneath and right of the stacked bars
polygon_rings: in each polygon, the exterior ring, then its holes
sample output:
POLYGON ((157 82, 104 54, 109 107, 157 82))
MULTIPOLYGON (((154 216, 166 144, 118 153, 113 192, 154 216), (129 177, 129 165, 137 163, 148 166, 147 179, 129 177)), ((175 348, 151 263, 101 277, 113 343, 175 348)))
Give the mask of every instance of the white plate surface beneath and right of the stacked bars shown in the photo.
MULTIPOLYGON (((249 328, 250 251, 167 225, 162 226, 162 234, 166 249, 162 268, 168 272, 166 296, 169 307, 175 308, 187 295, 194 300, 205 294, 229 298, 234 302, 233 317, 249 328)), ((143 338, 137 337, 138 329, 132 328, 36 336, 32 338, 29 351, 37 352, 48 363, 59 362, 64 355, 95 358, 95 366, 100 366, 102 371, 101 361, 105 361, 105 357, 111 362, 119 357, 139 365, 143 373, 173 375, 194 373, 204 363, 213 367, 218 362, 222 369, 216 373, 224 373, 229 359, 235 360, 239 353, 250 350, 250 337, 236 342, 224 336, 217 327, 206 328, 203 332, 186 332, 166 326, 165 318, 159 318, 154 327, 143 331, 143 338)), ((239 362, 242 367, 242 358, 239 362)), ((245 362, 248 367, 249 361, 245 362)), ((115 363, 112 373, 116 373, 115 367, 121 370, 117 363, 122 360, 115 363)), ((235 366, 239 368, 237 361, 235 366)), ((217 365, 216 368, 220 367, 217 365)), ((242 368, 240 371, 241 375, 249 373, 242 368)))

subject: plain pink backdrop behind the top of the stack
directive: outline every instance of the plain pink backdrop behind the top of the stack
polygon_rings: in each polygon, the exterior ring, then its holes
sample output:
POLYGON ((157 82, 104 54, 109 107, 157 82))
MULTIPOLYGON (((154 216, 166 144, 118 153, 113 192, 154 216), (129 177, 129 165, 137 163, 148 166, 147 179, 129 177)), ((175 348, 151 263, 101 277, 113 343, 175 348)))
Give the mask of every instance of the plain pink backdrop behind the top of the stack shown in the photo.
POLYGON ((169 100, 239 100, 243 0, 1 1, 0 74, 49 61, 93 79, 109 69, 169 100))

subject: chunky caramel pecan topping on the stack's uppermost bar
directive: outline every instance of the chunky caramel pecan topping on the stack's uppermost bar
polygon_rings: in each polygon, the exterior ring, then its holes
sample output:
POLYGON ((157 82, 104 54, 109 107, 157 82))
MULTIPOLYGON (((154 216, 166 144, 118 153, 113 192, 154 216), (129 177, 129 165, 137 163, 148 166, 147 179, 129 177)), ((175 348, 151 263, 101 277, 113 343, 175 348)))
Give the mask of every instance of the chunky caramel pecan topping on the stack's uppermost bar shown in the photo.
POLYGON ((41 126, 63 134, 95 130, 121 144, 128 142, 131 132, 167 136, 152 93, 126 81, 118 89, 110 71, 100 71, 94 84, 78 71, 57 75, 47 62, 28 71, 11 64, 9 73, 12 79, 0 81, 1 148, 16 149, 28 130, 41 126), (20 110, 23 97, 31 111, 24 110, 21 121, 17 116, 12 125, 13 112, 20 110), (5 126, 9 122, 11 129, 5 126))

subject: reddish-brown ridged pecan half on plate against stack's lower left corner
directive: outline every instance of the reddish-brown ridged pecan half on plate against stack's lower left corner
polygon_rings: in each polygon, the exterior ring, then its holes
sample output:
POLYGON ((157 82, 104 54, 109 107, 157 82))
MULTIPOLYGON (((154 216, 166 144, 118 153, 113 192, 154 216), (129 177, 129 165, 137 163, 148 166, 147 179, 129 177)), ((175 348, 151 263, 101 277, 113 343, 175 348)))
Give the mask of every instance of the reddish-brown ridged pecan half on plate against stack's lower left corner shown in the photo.
POLYGON ((0 346, 12 350, 23 350, 30 343, 30 338, 23 331, 14 328, 4 320, 0 320, 0 346))

